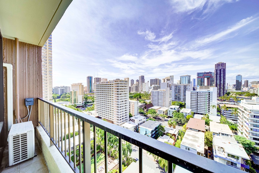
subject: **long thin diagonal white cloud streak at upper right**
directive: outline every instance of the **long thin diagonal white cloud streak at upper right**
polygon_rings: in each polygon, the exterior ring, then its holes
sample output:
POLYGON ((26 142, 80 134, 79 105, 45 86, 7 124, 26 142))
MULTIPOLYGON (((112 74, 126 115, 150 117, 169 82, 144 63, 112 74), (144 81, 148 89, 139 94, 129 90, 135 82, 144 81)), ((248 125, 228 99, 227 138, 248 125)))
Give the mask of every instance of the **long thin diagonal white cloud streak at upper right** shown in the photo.
POLYGON ((213 41, 216 41, 216 40, 225 39, 226 35, 244 27, 245 25, 249 24, 250 22, 252 22, 256 19, 257 18, 253 19, 253 17, 245 18, 245 19, 237 22, 234 26, 232 26, 232 27, 220 32, 220 33, 217 33, 217 34, 214 34, 214 35, 206 35, 205 37, 200 38, 199 40, 196 40, 196 42, 198 44, 207 44, 207 43, 210 43, 210 42, 213 42, 213 41))

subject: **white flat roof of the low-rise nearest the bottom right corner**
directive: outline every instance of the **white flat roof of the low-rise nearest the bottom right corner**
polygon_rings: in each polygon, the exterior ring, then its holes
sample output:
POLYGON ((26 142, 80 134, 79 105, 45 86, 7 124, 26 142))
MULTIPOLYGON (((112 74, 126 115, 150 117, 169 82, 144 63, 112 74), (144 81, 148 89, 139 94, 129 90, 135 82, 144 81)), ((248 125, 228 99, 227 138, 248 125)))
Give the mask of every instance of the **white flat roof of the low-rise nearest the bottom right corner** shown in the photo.
POLYGON ((233 154, 244 159, 249 159, 245 149, 241 144, 238 144, 235 138, 227 136, 213 136, 213 145, 224 148, 226 153, 233 154))

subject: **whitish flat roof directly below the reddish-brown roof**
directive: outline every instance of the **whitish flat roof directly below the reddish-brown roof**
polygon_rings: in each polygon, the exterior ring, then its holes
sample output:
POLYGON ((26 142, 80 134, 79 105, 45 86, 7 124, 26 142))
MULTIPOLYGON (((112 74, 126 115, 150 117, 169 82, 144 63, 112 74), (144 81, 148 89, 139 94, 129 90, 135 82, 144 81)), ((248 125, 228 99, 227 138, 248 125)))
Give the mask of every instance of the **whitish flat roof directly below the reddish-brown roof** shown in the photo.
POLYGON ((181 145, 193 148, 200 153, 204 153, 204 133, 187 129, 181 145))

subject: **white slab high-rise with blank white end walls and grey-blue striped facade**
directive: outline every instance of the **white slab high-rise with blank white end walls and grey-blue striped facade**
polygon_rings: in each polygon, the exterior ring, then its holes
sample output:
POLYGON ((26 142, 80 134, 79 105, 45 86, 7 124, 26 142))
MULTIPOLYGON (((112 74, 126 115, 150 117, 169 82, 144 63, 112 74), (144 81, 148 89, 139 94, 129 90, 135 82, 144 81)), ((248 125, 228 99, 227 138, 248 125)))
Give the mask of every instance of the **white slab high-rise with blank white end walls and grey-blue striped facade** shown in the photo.
POLYGON ((217 115, 217 88, 211 87, 209 90, 186 91, 186 108, 191 109, 196 114, 217 115))

